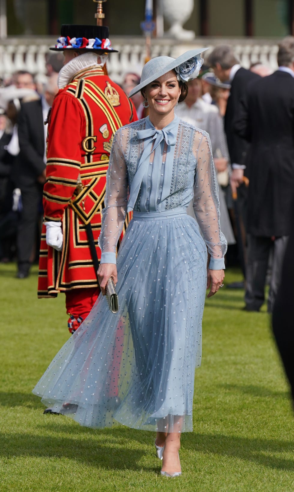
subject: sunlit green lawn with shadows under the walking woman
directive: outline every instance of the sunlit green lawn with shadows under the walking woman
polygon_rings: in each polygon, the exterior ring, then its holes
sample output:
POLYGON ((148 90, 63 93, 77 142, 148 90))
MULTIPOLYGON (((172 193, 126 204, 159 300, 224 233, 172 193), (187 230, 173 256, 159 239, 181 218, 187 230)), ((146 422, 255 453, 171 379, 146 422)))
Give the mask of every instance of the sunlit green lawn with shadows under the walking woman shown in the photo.
POLYGON ((207 300, 194 432, 182 476, 167 479, 153 433, 43 415, 31 389, 68 338, 64 297, 36 299, 36 267, 15 273, 0 265, 0 491, 294 491, 294 414, 265 307, 244 312, 243 292, 226 288, 207 300))

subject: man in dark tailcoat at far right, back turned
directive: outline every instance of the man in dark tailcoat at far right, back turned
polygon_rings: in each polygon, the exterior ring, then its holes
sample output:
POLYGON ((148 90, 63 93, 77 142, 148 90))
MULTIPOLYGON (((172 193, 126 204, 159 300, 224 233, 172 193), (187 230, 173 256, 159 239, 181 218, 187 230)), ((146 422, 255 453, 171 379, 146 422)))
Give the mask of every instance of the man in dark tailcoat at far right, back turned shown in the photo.
POLYGON ((235 119, 238 135, 251 143, 248 189, 247 310, 265 299, 268 257, 273 252, 267 310, 272 311, 291 221, 294 190, 294 37, 279 45, 279 69, 248 88, 235 119))

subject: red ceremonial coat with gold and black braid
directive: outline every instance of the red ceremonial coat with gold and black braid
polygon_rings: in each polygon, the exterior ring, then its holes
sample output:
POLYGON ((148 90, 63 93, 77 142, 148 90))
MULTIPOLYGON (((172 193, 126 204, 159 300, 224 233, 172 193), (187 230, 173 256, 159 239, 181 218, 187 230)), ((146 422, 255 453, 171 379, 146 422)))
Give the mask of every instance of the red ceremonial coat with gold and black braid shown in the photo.
MULTIPOLYGON (((91 224, 100 258, 97 240, 114 133, 136 120, 132 102, 98 65, 78 72, 56 95, 48 128, 43 206, 44 221, 62 222, 63 247, 59 252, 47 246, 43 225, 38 297, 56 297, 64 291, 70 293, 69 304, 74 305, 75 289, 89 289, 89 297, 96 292, 85 224, 91 224), (79 176, 83 188, 77 191, 79 176)), ((84 304, 85 297, 83 292, 84 304)), ((91 299, 90 308, 94 301, 91 299)))

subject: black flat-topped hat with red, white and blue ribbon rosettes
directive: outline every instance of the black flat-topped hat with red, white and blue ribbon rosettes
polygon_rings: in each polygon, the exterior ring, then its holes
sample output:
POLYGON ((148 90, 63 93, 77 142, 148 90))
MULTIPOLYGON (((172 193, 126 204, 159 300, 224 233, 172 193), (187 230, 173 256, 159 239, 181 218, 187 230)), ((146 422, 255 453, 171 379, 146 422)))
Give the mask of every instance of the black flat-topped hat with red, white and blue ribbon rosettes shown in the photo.
POLYGON ((53 51, 89 50, 95 53, 117 53, 111 47, 107 26, 85 26, 77 24, 62 24, 61 35, 53 51))

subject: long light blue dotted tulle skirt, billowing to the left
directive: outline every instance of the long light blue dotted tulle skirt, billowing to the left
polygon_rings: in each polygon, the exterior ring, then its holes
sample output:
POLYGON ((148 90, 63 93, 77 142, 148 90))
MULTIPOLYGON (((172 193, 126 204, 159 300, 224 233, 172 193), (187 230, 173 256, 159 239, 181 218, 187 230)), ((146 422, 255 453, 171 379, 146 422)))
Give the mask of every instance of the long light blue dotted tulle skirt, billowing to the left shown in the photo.
POLYGON ((118 254, 118 313, 99 296, 33 393, 83 426, 192 431, 205 243, 185 212, 134 213, 118 254))

